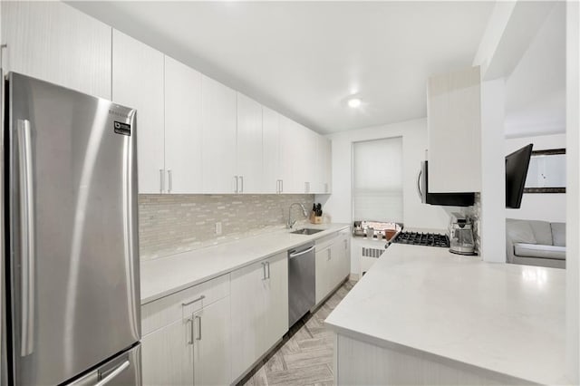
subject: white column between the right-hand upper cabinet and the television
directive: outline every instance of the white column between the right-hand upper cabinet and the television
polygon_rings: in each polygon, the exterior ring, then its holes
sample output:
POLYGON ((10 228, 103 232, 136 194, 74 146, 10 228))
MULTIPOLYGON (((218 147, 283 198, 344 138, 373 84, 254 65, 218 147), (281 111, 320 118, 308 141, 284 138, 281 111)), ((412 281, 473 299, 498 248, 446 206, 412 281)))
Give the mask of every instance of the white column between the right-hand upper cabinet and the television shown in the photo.
POLYGON ((480 253, 484 261, 506 262, 506 165, 504 79, 481 83, 480 253))

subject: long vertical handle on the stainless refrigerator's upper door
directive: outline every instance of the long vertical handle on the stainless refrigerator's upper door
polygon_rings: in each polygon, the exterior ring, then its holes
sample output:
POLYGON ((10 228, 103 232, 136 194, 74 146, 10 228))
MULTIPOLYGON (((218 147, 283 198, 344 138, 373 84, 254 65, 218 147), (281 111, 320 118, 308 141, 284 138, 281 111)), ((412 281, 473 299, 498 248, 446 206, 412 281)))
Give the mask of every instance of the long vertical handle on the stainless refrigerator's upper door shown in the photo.
POLYGON ((34 351, 34 176, 30 121, 17 121, 20 189, 22 321, 20 355, 34 351))

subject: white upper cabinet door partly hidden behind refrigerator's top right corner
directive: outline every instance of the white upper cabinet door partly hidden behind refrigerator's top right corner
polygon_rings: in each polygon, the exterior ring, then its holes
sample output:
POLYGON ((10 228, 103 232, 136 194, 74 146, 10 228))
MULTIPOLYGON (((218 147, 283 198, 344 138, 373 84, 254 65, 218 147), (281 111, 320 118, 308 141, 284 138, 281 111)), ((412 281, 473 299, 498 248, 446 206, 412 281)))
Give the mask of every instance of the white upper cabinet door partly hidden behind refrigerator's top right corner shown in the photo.
POLYGON ((166 191, 163 53, 112 33, 112 101, 137 109, 139 192, 166 191))

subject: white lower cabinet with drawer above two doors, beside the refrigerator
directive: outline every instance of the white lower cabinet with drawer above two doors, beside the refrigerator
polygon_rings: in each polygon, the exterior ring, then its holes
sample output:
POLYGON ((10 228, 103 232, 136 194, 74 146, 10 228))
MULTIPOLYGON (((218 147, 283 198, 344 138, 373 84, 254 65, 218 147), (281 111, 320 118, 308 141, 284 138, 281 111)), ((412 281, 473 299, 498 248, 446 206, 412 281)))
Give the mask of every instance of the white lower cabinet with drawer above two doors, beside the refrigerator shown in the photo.
POLYGON ((229 275, 141 307, 144 385, 232 381, 229 275))

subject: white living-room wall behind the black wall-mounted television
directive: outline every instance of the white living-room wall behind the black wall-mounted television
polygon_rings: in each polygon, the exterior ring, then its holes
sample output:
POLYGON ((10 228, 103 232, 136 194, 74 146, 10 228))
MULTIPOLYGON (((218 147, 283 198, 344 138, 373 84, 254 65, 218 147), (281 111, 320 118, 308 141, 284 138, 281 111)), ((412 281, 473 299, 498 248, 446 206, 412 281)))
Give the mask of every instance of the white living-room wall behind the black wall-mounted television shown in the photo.
MULTIPOLYGON (((536 137, 508 138, 506 154, 528 143, 534 150, 565 149, 565 134, 542 135, 536 137)), ((506 209, 507 218, 565 222, 565 193, 525 193, 519 209, 506 209)))

